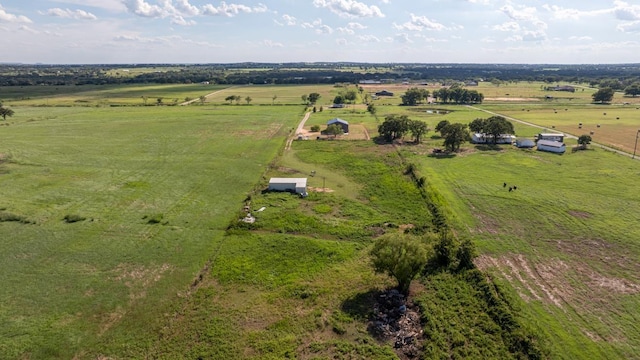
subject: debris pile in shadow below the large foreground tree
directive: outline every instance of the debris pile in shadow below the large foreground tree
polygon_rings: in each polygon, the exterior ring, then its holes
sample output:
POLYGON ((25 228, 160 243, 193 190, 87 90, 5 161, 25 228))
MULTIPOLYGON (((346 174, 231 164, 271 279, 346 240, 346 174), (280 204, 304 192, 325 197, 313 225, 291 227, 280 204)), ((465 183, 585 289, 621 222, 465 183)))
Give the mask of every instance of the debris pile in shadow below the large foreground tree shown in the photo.
POLYGON ((371 331, 378 338, 393 341, 402 359, 420 356, 422 325, 418 307, 398 290, 383 293, 374 305, 371 331))

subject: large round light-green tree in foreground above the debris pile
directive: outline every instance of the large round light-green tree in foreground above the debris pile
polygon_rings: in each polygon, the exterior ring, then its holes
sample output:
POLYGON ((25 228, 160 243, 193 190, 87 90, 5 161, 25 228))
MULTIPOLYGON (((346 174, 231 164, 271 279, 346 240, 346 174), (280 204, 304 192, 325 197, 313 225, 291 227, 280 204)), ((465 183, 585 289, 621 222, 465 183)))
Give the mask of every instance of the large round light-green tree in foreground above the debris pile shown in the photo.
POLYGON ((405 295, 409 294, 411 281, 420 274, 428 259, 419 238, 401 233, 379 237, 370 255, 375 272, 396 279, 398 290, 405 295))

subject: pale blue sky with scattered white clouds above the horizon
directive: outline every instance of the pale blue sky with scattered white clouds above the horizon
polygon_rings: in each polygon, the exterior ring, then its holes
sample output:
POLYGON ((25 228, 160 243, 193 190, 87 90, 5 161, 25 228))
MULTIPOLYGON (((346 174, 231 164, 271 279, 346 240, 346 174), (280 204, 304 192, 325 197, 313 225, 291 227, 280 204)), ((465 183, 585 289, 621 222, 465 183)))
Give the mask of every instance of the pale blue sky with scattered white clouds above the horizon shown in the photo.
POLYGON ((640 63, 640 0, 0 0, 0 63, 640 63))

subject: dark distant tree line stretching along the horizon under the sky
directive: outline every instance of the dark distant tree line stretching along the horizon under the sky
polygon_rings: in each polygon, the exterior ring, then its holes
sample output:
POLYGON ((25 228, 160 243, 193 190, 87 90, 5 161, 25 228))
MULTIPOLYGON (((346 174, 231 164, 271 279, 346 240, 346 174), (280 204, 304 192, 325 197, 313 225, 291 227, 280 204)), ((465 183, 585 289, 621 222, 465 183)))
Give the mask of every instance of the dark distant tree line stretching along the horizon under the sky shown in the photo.
POLYGON ((640 83, 640 65, 237 63, 135 65, 0 65, 0 85, 334 84, 360 80, 452 85, 471 79, 501 82, 590 83, 622 91, 640 83), (123 68, 127 69, 125 73, 123 68), (136 74, 136 69, 152 69, 136 74), (153 71, 157 69, 157 71, 153 71), (247 70, 248 69, 248 70, 247 70))

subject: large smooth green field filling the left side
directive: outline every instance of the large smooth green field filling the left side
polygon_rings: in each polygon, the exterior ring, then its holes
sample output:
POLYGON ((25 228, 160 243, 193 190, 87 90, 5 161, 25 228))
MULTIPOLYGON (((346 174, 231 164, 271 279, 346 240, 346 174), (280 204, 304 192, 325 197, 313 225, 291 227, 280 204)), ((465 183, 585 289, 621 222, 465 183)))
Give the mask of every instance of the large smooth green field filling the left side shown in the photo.
POLYGON ((33 359, 146 351, 302 114, 15 109, 0 131, 0 357, 33 359))

